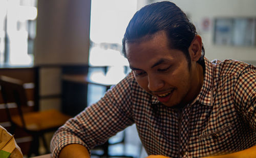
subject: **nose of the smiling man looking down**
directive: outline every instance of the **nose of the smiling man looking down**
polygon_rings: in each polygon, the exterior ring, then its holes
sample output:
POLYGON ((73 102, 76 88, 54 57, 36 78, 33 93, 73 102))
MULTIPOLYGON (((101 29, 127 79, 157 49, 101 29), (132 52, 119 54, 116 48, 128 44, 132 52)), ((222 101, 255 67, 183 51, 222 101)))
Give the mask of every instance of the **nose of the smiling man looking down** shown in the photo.
POLYGON ((159 77, 154 76, 154 75, 148 75, 148 89, 150 91, 155 92, 159 91, 162 87, 164 86, 164 81, 161 80, 159 77))

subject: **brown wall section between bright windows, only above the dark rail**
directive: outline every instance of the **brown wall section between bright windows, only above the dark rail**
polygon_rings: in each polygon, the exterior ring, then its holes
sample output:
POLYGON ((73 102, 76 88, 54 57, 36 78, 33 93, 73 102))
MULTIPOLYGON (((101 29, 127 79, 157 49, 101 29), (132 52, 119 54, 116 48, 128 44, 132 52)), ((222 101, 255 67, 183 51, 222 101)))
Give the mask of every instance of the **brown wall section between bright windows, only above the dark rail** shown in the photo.
POLYGON ((91 1, 38 1, 35 65, 87 64, 91 1))

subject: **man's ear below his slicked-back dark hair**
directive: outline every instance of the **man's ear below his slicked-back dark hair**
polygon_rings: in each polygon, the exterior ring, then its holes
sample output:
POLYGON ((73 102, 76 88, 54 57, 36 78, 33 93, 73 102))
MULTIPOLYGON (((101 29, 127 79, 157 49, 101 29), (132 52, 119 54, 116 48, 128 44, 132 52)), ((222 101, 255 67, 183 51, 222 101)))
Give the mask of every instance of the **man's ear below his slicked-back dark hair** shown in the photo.
POLYGON ((199 35, 196 35, 196 37, 191 42, 188 52, 190 54, 192 61, 198 61, 201 57, 202 53, 202 38, 199 35))

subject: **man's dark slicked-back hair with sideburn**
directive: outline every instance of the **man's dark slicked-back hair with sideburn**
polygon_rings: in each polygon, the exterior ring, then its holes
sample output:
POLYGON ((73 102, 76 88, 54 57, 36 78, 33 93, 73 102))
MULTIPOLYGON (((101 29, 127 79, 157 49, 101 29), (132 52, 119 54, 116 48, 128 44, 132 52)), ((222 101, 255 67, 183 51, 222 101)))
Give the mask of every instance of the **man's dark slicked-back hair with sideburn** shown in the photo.
MULTIPOLYGON (((165 31, 169 39, 169 47, 182 51, 190 65, 188 48, 197 35, 196 27, 186 14, 171 2, 158 2, 147 5, 135 13, 126 28, 122 45, 123 55, 126 57, 125 43, 139 42, 150 38, 158 31, 165 31)), ((198 62, 203 62, 202 56, 198 62)))

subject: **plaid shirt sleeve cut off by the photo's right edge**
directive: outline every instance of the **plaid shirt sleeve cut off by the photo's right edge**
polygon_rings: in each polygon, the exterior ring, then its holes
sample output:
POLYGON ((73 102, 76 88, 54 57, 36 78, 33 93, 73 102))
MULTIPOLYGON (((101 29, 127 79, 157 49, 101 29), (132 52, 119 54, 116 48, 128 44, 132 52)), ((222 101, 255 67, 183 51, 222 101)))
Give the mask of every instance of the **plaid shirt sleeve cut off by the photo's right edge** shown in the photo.
POLYGON ((256 69, 249 65, 234 86, 234 102, 243 119, 256 131, 256 69))

